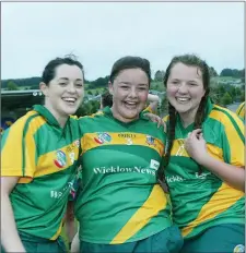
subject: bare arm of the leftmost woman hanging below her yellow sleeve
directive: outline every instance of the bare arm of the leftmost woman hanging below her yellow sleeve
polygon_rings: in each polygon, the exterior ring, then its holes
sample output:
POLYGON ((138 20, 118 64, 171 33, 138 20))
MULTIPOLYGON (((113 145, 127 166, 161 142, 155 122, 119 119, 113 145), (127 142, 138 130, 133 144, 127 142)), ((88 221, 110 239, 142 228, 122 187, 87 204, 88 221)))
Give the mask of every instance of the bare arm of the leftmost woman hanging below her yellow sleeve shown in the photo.
POLYGON ((17 177, 1 177, 1 244, 5 252, 26 252, 19 237, 10 193, 17 177))

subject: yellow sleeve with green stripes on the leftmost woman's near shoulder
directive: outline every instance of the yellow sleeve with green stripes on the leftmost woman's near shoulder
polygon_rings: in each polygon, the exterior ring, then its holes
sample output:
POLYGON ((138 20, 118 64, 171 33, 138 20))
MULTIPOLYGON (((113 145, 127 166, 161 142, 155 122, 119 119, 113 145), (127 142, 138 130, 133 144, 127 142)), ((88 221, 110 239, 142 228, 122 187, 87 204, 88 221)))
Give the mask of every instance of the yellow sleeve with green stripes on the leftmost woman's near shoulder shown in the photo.
POLYGON ((31 177, 36 170, 36 143, 31 121, 36 112, 20 118, 1 138, 1 176, 31 177))

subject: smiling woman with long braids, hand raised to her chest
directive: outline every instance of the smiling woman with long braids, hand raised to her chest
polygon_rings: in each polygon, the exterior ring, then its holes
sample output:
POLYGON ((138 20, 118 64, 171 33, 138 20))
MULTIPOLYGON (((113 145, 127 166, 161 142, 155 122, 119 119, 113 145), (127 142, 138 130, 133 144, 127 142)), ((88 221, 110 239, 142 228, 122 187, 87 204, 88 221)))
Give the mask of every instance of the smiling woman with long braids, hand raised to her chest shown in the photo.
POLYGON ((244 252, 244 124, 209 98, 209 67, 175 57, 165 74, 169 103, 165 178, 181 253, 244 252))

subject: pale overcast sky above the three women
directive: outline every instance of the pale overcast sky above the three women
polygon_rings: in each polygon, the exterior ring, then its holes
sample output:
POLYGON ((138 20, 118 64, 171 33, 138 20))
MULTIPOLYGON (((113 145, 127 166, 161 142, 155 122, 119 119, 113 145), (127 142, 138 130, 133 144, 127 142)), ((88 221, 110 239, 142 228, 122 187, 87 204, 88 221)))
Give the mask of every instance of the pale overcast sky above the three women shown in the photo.
POLYGON ((1 80, 40 76, 69 53, 90 81, 125 56, 150 60, 152 75, 184 53, 244 69, 244 2, 2 2, 1 80))

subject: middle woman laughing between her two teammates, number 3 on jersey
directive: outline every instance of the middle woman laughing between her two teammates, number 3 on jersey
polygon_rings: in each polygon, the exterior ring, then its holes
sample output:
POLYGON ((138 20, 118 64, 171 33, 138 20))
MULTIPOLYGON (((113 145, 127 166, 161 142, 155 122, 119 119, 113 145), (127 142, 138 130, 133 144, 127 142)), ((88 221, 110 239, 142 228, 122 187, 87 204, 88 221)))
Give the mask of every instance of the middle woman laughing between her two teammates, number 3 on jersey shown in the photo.
POLYGON ((183 238, 157 183, 165 134, 141 111, 151 80, 150 62, 125 57, 109 82, 112 108, 79 119, 82 184, 75 202, 80 252, 172 252, 183 238))

